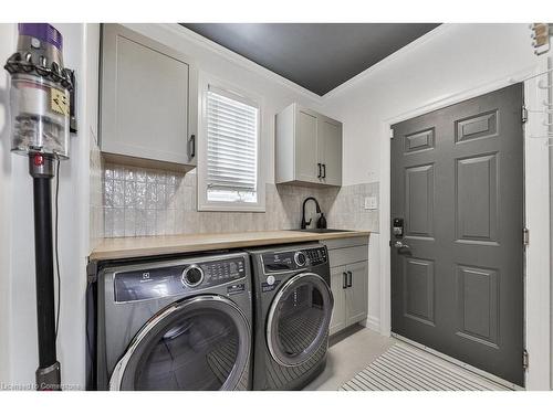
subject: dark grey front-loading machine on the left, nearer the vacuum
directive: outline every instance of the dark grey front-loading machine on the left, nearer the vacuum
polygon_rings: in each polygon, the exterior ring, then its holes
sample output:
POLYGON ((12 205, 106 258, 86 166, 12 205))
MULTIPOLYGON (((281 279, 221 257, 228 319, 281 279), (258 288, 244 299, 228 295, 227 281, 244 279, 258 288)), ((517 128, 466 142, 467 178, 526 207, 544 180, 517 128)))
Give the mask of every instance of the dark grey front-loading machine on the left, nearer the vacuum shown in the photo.
POLYGON ((95 296, 95 389, 250 388, 247 254, 107 263, 95 296))

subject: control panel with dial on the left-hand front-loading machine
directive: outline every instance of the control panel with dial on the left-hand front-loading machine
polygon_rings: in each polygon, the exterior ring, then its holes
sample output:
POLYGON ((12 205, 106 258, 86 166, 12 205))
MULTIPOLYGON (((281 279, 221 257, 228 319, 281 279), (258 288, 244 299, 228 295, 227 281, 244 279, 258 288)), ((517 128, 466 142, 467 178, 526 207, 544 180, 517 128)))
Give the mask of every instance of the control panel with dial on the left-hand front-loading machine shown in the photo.
MULTIPOLYGON (((189 289, 205 289, 238 280, 247 275, 243 256, 187 263, 166 267, 145 267, 114 275, 115 301, 134 301, 179 295, 189 289)), ((236 285, 238 286, 238 285, 236 285)), ((243 290, 243 284, 242 290, 243 290)), ((228 294, 240 293, 232 290, 228 294)))

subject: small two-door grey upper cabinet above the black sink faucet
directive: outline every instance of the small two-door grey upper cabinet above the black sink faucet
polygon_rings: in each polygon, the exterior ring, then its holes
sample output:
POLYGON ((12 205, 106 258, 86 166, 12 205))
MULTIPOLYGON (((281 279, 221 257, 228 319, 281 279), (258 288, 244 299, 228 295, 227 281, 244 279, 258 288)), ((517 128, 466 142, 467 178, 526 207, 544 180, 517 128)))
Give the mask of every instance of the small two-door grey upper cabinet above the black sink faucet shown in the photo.
POLYGON ((276 115, 276 183, 342 185, 342 124, 292 104, 276 115))

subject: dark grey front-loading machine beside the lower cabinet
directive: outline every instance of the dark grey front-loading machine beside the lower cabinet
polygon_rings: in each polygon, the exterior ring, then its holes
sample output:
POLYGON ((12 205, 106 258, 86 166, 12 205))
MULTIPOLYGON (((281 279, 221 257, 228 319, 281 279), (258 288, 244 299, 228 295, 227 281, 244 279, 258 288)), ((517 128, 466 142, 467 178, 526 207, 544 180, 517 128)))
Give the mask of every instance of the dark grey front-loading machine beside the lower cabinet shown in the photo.
POLYGON ((325 368, 334 299, 321 244, 249 251, 254 390, 301 390, 325 368))

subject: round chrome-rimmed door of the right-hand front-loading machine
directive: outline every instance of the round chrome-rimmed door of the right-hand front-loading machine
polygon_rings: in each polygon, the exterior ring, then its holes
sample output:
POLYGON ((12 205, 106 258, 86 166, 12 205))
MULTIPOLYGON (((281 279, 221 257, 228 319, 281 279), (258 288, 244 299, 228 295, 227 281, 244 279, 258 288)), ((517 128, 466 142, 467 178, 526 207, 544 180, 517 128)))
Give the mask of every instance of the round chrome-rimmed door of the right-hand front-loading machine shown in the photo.
POLYGON ((332 293, 321 276, 304 273, 289 279, 269 310, 267 339, 274 360, 293 367, 313 357, 327 341, 332 307, 332 293))

